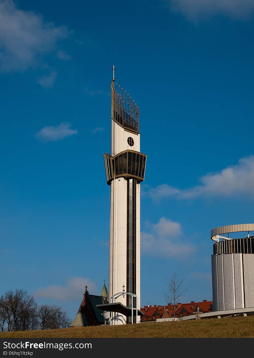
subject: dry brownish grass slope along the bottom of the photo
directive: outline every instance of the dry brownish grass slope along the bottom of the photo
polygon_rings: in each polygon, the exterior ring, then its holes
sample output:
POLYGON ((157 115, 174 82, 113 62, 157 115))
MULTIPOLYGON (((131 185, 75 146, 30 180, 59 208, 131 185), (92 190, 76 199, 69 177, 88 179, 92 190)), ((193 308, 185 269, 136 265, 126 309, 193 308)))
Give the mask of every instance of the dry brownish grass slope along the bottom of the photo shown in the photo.
POLYGON ((254 338, 254 316, 1 332, 0 338, 254 338))

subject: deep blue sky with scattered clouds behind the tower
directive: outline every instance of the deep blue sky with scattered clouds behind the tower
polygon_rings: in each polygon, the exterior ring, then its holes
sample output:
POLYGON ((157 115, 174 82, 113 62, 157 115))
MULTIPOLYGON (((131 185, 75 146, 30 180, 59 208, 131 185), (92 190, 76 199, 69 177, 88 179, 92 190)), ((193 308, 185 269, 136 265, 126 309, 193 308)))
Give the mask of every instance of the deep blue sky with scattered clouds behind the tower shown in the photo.
POLYGON ((74 318, 108 285, 110 85, 140 108, 141 305, 212 299, 213 227, 253 222, 253 0, 0 0, 0 294, 74 318), (185 288, 185 287, 183 287, 185 288))

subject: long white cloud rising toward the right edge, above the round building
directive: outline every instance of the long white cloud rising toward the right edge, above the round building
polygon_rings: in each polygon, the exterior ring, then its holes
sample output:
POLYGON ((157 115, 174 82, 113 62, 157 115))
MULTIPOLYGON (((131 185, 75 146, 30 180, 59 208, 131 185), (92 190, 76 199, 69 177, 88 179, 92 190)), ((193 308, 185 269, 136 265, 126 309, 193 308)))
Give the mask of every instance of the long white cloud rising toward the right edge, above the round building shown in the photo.
POLYGON ((201 177, 201 184, 186 190, 180 190, 163 184, 151 188, 148 193, 153 199, 176 196, 180 199, 197 197, 233 197, 248 196, 254 198, 254 156, 242 158, 236 165, 228 166, 215 174, 201 177))

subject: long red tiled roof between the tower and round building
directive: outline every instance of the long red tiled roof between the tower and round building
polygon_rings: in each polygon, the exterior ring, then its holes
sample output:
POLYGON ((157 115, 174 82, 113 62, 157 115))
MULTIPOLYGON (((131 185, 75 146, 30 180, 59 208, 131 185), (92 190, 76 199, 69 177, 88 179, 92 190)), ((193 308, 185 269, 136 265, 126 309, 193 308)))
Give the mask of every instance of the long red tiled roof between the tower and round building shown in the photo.
MULTIPOLYGON (((199 312, 206 313, 213 310, 212 301, 207 300, 203 300, 203 302, 177 303, 175 305, 175 316, 185 317, 192 315, 193 312, 197 311, 197 306, 199 307, 199 312)), ((174 307, 170 303, 166 306, 144 306, 141 311, 145 314, 145 316, 141 316, 141 322, 156 321, 157 318, 169 318, 174 315, 174 307)))

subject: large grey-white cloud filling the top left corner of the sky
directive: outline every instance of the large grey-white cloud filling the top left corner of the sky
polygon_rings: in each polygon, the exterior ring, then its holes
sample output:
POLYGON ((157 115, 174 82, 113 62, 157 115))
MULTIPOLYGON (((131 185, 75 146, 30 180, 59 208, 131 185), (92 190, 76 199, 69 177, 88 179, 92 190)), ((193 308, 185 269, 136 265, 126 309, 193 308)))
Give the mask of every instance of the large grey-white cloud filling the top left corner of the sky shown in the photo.
POLYGON ((67 35, 65 26, 45 23, 41 15, 18 9, 13 0, 0 0, 1 71, 23 71, 33 67, 67 35))

